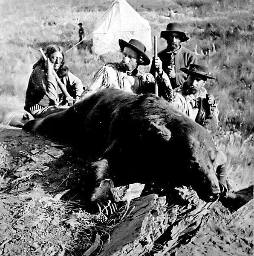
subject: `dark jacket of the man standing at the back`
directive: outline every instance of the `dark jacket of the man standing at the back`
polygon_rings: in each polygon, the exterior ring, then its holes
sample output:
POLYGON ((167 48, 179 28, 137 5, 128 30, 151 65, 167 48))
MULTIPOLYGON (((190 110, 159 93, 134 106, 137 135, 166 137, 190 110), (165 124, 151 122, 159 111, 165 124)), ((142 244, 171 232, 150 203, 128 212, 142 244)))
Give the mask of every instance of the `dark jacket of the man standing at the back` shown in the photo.
MULTIPOLYGON (((190 64, 197 64, 197 56, 191 50, 180 45, 180 48, 175 53, 175 68, 176 68, 176 78, 169 78, 172 88, 177 88, 185 82, 187 74, 180 71, 180 68, 188 68, 190 64)), ((158 53, 158 57, 162 61, 162 69, 166 72, 167 66, 170 66, 170 56, 171 53, 164 49, 158 53)), ((154 75, 155 67, 154 61, 152 63, 150 73, 154 75)))

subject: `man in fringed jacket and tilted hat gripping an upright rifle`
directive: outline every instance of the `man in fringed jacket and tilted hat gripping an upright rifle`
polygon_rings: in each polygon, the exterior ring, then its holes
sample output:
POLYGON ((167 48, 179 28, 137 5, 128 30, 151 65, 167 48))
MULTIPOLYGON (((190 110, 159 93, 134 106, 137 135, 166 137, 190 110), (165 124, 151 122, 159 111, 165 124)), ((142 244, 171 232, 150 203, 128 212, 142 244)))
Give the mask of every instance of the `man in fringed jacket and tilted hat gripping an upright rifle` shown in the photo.
MULTIPOLYGON (((118 88, 136 94, 155 92, 153 75, 139 70, 139 65, 150 64, 144 44, 136 39, 131 39, 129 42, 119 39, 119 46, 123 53, 121 62, 110 62, 101 67, 80 99, 101 88, 118 88)), ((155 67, 159 74, 156 78, 160 88, 159 93, 171 101, 173 90, 167 74, 162 70, 159 58, 155 59, 155 67)))

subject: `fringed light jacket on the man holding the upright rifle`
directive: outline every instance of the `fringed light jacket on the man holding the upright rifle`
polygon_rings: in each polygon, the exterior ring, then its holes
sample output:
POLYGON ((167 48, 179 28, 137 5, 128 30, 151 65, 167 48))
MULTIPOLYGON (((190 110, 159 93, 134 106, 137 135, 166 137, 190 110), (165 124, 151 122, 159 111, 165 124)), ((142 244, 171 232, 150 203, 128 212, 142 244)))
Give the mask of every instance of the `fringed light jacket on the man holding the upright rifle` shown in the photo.
MULTIPOLYGON (((159 95, 168 101, 172 100, 173 90, 169 78, 165 74, 157 76, 159 95)), ((139 68, 133 72, 124 71, 118 62, 107 63, 95 73, 92 83, 82 93, 80 100, 98 91, 101 88, 117 88, 136 94, 155 93, 155 78, 139 68)))

